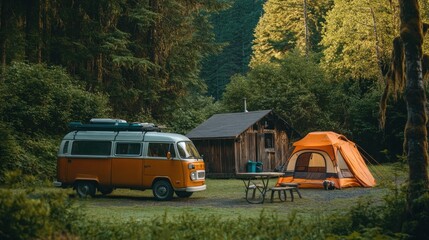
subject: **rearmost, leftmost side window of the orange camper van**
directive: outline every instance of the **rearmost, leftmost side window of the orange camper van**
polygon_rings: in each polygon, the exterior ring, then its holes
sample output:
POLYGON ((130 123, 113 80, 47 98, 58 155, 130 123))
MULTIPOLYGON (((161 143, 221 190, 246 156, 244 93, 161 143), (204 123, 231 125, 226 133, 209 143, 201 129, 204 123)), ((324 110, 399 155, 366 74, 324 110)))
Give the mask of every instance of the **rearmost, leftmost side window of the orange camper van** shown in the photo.
POLYGON ((110 141, 74 141, 72 155, 110 155, 112 143, 110 141))

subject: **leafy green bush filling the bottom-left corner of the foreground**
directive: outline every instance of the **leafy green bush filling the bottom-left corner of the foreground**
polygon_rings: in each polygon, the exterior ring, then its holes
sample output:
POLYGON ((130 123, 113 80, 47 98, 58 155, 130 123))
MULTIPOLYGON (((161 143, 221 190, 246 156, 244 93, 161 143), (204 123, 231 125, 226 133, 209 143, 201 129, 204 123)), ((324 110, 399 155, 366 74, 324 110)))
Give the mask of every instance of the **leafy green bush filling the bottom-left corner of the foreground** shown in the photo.
POLYGON ((79 219, 62 192, 0 189, 0 238, 49 239, 70 231, 79 219))

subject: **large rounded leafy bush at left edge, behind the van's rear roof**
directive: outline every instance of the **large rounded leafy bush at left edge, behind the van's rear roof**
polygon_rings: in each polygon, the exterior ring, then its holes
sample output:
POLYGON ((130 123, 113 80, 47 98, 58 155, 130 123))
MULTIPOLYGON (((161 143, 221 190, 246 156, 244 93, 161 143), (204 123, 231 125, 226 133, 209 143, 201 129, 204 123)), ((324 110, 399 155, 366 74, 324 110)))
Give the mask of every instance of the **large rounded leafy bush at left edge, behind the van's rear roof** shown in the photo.
POLYGON ((67 123, 107 113, 103 95, 84 91, 61 68, 15 63, 0 85, 0 121, 24 135, 62 134, 67 123))

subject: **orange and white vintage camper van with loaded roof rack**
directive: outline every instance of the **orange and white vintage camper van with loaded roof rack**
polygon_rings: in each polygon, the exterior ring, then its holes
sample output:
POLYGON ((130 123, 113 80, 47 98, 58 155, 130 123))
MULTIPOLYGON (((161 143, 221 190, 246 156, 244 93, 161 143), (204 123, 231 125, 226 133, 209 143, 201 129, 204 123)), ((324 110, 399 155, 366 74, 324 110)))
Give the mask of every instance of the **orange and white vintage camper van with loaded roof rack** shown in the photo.
POLYGON ((57 187, 80 197, 115 188, 152 189, 157 200, 206 189, 204 162, 189 138, 120 119, 70 123, 58 151, 57 187))

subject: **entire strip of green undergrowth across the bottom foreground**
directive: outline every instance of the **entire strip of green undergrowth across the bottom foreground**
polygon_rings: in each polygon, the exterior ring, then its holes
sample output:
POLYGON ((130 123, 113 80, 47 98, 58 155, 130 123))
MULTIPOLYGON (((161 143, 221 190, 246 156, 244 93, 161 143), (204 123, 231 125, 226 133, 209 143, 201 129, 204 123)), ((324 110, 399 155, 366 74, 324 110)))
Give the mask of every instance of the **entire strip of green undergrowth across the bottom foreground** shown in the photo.
MULTIPOLYGON (((83 215, 62 191, 0 189, 0 239, 427 239, 418 232, 424 222, 407 222, 402 194, 390 194, 383 204, 365 200, 345 213, 312 218, 261 212, 258 218, 225 220, 184 213, 174 219, 164 214, 106 221, 83 215)), ((428 203, 422 199, 423 220, 428 203)))

